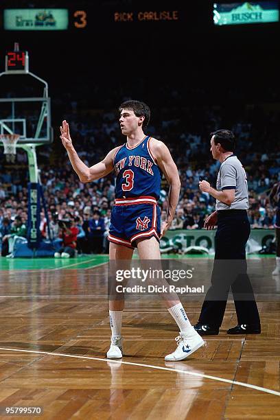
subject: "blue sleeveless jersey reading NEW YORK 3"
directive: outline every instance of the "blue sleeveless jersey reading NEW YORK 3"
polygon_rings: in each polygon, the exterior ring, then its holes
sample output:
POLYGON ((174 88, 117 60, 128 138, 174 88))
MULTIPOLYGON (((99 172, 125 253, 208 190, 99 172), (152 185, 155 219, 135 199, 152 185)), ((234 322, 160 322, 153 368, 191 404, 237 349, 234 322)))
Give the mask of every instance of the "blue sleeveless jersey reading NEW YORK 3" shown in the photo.
POLYGON ((117 150, 114 158, 116 198, 153 196, 159 199, 162 173, 150 153, 149 142, 147 136, 134 148, 128 148, 126 143, 117 150))

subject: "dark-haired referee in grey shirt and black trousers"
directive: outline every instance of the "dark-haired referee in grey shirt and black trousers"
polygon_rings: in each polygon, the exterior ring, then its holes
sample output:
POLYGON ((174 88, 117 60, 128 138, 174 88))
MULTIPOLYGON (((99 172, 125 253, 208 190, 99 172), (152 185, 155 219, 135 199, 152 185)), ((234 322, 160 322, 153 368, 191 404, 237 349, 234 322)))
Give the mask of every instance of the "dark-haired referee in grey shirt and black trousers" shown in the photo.
POLYGON ((221 163, 217 189, 212 188, 206 180, 200 181, 199 187, 200 191, 216 198, 216 210, 205 220, 205 228, 214 229, 217 225, 218 229, 215 234, 211 286, 194 328, 201 336, 219 334, 231 288, 238 325, 228 329, 227 334, 259 334, 259 312, 247 275, 245 251, 250 235, 248 187, 244 167, 233 154, 233 132, 212 132, 210 150, 213 158, 221 163))

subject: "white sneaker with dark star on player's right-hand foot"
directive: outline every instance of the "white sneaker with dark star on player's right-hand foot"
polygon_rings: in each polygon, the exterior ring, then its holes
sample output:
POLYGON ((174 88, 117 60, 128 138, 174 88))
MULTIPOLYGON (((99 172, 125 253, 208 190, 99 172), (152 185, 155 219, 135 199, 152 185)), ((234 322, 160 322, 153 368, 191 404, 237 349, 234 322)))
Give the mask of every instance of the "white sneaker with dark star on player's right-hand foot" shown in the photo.
POLYGON ((194 351, 205 345, 205 342, 195 330, 194 334, 191 335, 180 333, 180 336, 176 337, 175 341, 177 342, 176 350, 165 356, 165 360, 168 362, 185 360, 189 355, 194 353, 194 351))

